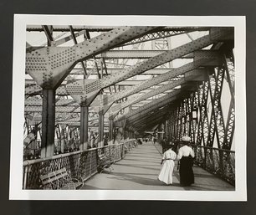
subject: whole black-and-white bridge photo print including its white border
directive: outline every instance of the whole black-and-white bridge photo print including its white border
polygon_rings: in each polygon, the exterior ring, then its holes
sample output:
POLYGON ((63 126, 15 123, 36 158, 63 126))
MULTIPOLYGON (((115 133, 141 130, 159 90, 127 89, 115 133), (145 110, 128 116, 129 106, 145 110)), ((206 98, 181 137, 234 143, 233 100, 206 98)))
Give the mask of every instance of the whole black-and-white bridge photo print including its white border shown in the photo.
POLYGON ((10 199, 246 201, 245 18, 14 16, 10 199))

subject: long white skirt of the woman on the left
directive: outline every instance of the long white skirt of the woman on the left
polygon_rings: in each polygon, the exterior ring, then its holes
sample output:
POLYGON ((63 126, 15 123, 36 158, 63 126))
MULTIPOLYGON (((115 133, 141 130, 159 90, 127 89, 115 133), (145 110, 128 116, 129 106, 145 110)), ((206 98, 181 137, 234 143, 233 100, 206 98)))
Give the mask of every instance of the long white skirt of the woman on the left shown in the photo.
POLYGON ((161 167, 158 179, 166 184, 172 184, 172 171, 174 166, 175 163, 173 160, 165 160, 163 166, 161 167))

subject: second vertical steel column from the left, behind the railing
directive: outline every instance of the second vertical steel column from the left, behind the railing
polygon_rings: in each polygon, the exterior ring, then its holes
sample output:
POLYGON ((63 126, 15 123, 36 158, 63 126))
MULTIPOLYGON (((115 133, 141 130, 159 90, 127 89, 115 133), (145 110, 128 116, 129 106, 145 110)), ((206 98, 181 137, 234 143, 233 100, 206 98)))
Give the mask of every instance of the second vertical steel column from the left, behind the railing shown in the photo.
POLYGON ((84 151, 88 146, 88 114, 89 108, 86 105, 80 105, 80 144, 79 149, 84 151))

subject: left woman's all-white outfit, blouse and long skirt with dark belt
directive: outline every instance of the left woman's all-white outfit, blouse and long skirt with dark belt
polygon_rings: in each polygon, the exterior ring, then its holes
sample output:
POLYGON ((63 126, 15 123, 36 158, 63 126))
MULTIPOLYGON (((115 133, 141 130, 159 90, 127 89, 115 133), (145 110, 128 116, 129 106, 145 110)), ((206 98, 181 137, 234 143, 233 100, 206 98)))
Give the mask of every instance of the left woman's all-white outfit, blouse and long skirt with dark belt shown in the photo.
POLYGON ((172 172, 175 166, 175 159, 177 155, 172 149, 167 150, 161 159, 161 164, 163 163, 163 166, 161 167, 161 171, 158 176, 158 180, 161 182, 168 184, 172 184, 172 172))

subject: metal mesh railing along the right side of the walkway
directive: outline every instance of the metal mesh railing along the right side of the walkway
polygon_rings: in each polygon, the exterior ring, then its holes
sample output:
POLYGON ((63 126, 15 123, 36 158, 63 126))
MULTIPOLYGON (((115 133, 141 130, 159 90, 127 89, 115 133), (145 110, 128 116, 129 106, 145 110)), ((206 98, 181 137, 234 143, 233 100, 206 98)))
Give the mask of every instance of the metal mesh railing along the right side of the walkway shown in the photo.
POLYGON ((235 151, 193 144, 189 146, 195 152, 194 162, 198 166, 235 185, 235 151))

